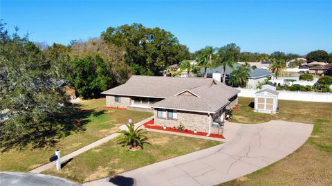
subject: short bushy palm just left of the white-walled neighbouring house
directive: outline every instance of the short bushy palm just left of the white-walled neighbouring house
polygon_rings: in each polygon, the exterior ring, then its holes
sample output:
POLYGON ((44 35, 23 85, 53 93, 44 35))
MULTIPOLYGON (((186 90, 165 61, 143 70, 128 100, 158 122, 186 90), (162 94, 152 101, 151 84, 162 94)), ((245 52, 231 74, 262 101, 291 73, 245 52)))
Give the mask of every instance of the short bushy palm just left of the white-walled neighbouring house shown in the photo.
POLYGON ((248 77, 250 77, 250 66, 241 65, 230 73, 229 83, 233 86, 246 87, 248 77))

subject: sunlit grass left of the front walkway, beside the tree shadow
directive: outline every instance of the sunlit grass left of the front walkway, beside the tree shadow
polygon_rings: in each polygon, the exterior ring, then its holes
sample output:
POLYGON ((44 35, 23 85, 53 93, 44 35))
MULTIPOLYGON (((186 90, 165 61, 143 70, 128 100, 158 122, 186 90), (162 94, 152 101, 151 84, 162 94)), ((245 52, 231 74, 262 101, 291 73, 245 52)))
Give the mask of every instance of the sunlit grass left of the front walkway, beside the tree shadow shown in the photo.
POLYGON ((54 147, 38 149, 26 147, 1 153, 0 171, 30 171, 46 164, 56 149, 62 151, 62 156, 64 156, 118 131, 118 127, 127 122, 128 118, 131 118, 133 122, 139 122, 152 115, 152 113, 139 111, 105 110, 103 109, 104 103, 104 99, 86 100, 79 103, 84 110, 94 110, 88 118, 89 122, 84 124, 86 131, 83 133, 71 133, 57 142, 54 147), (102 111, 101 114, 99 114, 100 111, 102 111))

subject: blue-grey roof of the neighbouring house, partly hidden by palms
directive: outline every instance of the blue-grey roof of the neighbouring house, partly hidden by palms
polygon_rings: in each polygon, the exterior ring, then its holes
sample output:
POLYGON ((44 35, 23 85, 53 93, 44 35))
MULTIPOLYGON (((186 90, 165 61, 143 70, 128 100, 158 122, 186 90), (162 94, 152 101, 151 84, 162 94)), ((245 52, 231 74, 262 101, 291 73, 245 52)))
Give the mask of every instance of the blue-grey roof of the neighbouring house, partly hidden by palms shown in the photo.
MULTIPOLYGON (((234 69, 237 69, 240 66, 240 64, 234 64, 234 69)), ((218 66, 216 68, 210 69, 208 68, 207 72, 209 76, 212 76, 212 73, 221 73, 223 66, 218 66)), ((232 68, 230 68, 229 66, 226 66, 226 75, 230 75, 230 73, 232 73, 232 68)), ((203 71, 201 71, 201 75, 203 75, 204 73, 204 69, 203 71)), ((273 73, 270 73, 269 71, 266 71, 265 69, 262 68, 256 68, 250 71, 250 78, 257 78, 257 77, 266 77, 266 76, 270 76, 273 75, 273 73)))

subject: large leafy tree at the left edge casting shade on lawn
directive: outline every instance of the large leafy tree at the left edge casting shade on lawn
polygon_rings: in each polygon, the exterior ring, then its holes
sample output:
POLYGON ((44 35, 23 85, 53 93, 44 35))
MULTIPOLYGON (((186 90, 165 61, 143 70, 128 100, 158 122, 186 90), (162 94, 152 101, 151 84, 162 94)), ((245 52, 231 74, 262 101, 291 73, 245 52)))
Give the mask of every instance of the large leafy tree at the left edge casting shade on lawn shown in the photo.
POLYGON ((64 122, 68 97, 53 73, 53 63, 27 37, 10 35, 0 23, 1 147, 43 146, 70 133, 64 122))

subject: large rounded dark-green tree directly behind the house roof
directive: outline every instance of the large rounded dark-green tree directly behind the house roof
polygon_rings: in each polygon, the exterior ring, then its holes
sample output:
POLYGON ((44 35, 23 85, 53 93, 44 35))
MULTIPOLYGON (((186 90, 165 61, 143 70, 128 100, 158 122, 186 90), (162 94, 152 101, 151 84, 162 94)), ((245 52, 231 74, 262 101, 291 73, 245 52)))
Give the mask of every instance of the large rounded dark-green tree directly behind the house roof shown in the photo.
POLYGON ((125 60, 135 74, 157 75, 167 66, 190 58, 186 46, 171 32, 158 27, 146 28, 142 24, 109 27, 101 37, 108 44, 124 48, 125 60))

